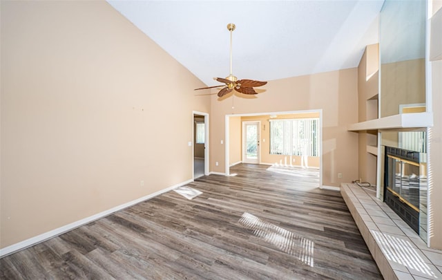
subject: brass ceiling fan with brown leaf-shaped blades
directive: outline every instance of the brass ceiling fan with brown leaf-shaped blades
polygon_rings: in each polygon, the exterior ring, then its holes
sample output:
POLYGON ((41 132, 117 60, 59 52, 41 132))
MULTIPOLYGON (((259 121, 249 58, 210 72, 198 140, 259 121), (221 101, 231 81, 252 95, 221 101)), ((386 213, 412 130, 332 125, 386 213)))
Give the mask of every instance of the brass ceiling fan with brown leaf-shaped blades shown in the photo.
MULTIPOLYGON (((253 88, 254 86, 264 86, 267 82, 260 82, 255 80, 238 80, 237 77, 232 75, 232 32, 235 30, 235 24, 227 24, 227 29, 230 31, 230 75, 226 78, 214 77, 213 80, 222 82, 225 86, 218 92, 218 97, 223 97, 227 93, 235 90, 238 93, 244 94, 256 94, 257 92, 253 88)), ((222 86, 222 85, 221 85, 222 86)), ((219 88, 220 86, 209 86, 206 88, 219 88)), ((195 91, 206 88, 195 88, 195 91)))

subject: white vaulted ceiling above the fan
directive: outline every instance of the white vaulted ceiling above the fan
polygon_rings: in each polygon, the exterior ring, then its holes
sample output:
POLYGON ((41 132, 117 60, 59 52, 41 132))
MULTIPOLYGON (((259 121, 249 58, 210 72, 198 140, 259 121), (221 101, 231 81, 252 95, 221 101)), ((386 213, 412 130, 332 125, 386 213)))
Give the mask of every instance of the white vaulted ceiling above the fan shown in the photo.
POLYGON ((378 42, 383 0, 122 1, 116 10, 207 86, 230 72, 238 79, 276 80, 359 64, 378 42))

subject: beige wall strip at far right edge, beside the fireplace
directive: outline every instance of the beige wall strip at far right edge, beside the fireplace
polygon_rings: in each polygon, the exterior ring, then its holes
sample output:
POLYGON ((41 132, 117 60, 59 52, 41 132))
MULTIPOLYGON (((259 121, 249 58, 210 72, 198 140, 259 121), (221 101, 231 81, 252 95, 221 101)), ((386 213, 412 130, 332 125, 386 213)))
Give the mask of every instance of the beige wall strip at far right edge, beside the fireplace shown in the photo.
MULTIPOLYGON (((436 13, 442 8, 442 1, 432 1, 433 12, 436 13)), ((442 33, 442 26, 431 26, 435 32, 442 33)), ((430 62, 432 70, 432 112, 434 127, 431 129, 430 139, 430 161, 432 185, 430 190, 430 244, 432 248, 442 250, 442 60, 430 62)))

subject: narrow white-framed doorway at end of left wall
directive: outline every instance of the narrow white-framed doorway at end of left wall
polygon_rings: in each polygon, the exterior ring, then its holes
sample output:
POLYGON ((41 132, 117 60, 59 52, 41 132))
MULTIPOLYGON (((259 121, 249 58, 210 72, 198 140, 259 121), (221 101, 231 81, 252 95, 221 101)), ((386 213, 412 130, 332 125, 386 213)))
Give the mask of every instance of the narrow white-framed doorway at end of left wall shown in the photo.
POLYGON ((193 111, 193 179, 209 175, 209 114, 193 111))

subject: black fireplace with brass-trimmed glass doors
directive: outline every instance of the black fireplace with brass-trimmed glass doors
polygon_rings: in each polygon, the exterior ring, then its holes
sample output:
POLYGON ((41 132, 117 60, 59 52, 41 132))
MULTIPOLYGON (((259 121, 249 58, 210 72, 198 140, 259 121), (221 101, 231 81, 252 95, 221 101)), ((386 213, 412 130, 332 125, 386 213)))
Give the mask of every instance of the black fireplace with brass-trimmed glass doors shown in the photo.
POLYGON ((384 200, 419 234, 419 220, 426 212, 426 177, 421 153, 385 147, 384 200), (425 192, 422 192, 425 190, 425 192), (425 196, 425 197, 423 197, 425 196))

